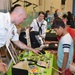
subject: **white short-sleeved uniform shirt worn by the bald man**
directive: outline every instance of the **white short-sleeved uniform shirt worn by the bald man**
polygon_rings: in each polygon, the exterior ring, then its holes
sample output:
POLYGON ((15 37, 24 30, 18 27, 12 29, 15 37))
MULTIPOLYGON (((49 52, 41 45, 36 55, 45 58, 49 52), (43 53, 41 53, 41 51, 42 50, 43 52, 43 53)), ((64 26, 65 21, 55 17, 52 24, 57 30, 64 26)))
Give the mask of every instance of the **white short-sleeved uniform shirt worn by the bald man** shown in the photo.
POLYGON ((4 46, 8 40, 19 40, 17 28, 11 23, 9 13, 0 13, 0 47, 4 46))

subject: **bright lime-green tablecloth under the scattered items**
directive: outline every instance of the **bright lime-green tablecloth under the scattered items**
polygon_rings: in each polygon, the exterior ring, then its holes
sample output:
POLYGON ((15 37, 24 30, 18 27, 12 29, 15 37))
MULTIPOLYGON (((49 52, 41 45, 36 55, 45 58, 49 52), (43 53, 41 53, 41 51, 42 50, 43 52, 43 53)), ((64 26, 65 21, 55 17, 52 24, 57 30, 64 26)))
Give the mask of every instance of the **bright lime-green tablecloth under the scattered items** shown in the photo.
MULTIPOLYGON (((54 54, 50 54, 48 51, 46 52, 46 54, 42 54, 42 55, 35 55, 34 53, 32 52, 29 52, 29 54, 27 52, 22 52, 18 58, 19 60, 23 60, 25 58, 35 58, 36 60, 40 60, 40 56, 42 57, 46 57, 46 60, 45 58, 43 59, 43 61, 47 61, 47 60, 50 60, 50 68, 43 68, 43 75, 53 75, 54 73, 54 70, 52 69, 52 67, 55 66, 55 63, 56 63, 56 60, 55 60, 55 56, 54 54), (39 58, 39 59, 38 59, 39 58)), ((13 63, 11 64, 11 66, 9 67, 9 70, 8 70, 8 75, 12 75, 12 66, 13 66, 13 63)), ((36 65, 37 66, 37 65, 36 65)), ((38 70, 38 75, 40 75, 40 72, 41 72, 41 67, 37 66, 37 68, 39 69, 38 70)), ((41 72, 42 73, 42 72, 41 72)), ((33 73, 29 73, 28 75, 34 75, 33 73)))

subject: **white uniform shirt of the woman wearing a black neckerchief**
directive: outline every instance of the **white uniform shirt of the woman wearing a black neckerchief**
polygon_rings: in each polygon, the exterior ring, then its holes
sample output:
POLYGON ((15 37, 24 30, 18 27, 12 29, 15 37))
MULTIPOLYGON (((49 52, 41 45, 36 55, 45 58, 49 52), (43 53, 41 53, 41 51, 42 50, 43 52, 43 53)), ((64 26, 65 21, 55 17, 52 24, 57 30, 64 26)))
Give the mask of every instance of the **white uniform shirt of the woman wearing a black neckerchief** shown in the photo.
POLYGON ((37 22, 39 23, 39 26, 42 29, 41 37, 42 38, 45 38, 46 30, 47 30, 47 22, 45 20, 42 20, 41 22, 39 22, 38 21, 38 18, 37 19, 34 19, 33 22, 30 25, 30 27, 32 27, 32 31, 39 31, 39 27, 37 25, 37 22), (41 24, 43 24, 43 25, 41 26, 41 24))

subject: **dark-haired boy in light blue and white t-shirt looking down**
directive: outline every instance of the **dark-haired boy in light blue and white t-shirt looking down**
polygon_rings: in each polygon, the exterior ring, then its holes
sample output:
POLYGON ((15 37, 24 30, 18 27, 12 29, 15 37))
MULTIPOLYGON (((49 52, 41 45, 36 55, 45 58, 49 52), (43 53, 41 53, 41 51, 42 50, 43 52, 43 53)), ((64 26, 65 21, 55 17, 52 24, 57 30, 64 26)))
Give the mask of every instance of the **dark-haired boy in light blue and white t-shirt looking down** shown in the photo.
POLYGON ((70 34, 67 32, 64 22, 57 17, 53 21, 52 28, 59 36, 62 36, 58 46, 57 64, 61 73, 59 75, 72 75, 69 64, 73 61, 74 46, 70 34))

